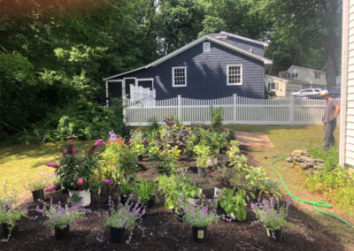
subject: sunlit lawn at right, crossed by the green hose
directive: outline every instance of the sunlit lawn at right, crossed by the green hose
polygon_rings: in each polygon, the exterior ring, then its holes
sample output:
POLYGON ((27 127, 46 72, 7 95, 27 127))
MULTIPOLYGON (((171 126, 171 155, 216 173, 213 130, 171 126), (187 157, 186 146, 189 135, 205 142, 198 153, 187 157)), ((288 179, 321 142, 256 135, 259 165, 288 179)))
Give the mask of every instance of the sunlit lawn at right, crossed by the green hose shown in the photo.
MULTIPOLYGON (((263 166, 268 176, 281 182, 281 179, 271 169, 271 164, 275 160, 274 158, 265 158, 266 156, 278 156, 289 155, 295 149, 311 149, 322 148, 323 146, 323 125, 302 125, 302 126, 282 126, 282 125, 237 125, 237 131, 243 132, 263 132, 266 133, 270 141, 273 142, 275 148, 250 148, 250 155, 258 163, 259 166, 263 166)), ((339 127, 335 129, 335 139, 339 139, 339 127)), ((338 141, 336 141, 336 147, 338 148, 338 141)), ((305 199, 312 202, 328 202, 332 204, 333 209, 323 209, 328 213, 335 214, 337 217, 342 217, 351 224, 354 224, 354 216, 350 215, 347 211, 339 209, 335 204, 329 202, 323 194, 310 193, 304 184, 304 176, 294 169, 285 169, 285 161, 274 164, 274 168, 281 173, 282 178, 285 180, 289 191, 301 199, 305 199)), ((287 194, 284 186, 281 185, 282 194, 287 194)), ((328 217, 319 213, 312 205, 297 202, 293 200, 298 209, 306 212, 310 217, 315 219, 319 224, 323 225, 328 232, 337 236, 342 244, 350 249, 354 247, 354 229, 346 224, 342 224, 341 221, 328 217)), ((314 230, 316 231, 316 230, 314 230)))

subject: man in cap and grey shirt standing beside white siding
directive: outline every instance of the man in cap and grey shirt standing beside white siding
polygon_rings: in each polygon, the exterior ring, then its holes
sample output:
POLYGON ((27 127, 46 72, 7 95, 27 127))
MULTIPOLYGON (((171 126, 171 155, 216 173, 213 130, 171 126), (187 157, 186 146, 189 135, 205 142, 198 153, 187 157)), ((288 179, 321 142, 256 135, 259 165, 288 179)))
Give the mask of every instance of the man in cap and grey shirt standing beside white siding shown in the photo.
POLYGON ((327 149, 332 146, 335 146, 335 126, 337 125, 336 118, 338 116, 340 106, 337 101, 332 98, 327 90, 323 90, 319 94, 323 96, 323 98, 327 101, 325 114, 323 115, 322 121, 324 123, 324 135, 323 135, 323 150, 327 151, 327 149))

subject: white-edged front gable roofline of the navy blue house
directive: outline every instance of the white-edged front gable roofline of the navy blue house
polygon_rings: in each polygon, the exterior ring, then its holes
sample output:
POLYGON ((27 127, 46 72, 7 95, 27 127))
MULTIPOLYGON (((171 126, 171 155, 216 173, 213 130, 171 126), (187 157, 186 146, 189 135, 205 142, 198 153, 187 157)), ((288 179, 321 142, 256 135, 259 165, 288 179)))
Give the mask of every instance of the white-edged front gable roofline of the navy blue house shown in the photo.
POLYGON ((218 39, 212 38, 212 36, 204 35, 204 36, 196 39, 193 42, 189 42, 189 44, 186 44, 185 46, 181 47, 180 49, 176 49, 173 52, 165 55, 164 57, 161 57, 158 60, 155 60, 154 62, 151 62, 148 65, 144 65, 142 67, 136 68, 136 69, 128 71, 128 72, 122 72, 122 73, 119 73, 117 75, 113 75, 111 77, 104 78, 104 80, 111 80, 113 78, 119 77, 121 75, 125 75, 125 74, 130 73, 130 72, 136 72, 136 71, 139 71, 139 70, 142 70, 142 69, 148 69, 150 67, 154 67, 156 65, 159 65, 159 64, 165 62, 166 60, 168 60, 168 59, 170 59, 172 57, 175 57, 175 56, 179 55, 181 52, 183 52, 183 51, 185 51, 185 50, 187 50, 189 48, 192 48, 196 44, 198 44, 200 42, 204 42, 204 41, 210 41, 210 42, 217 43, 217 44, 219 44, 219 45, 221 45, 223 47, 226 47, 227 49, 234 50, 234 51, 239 52, 239 53, 241 53, 241 54, 243 54, 243 55, 245 55, 247 57, 251 57, 251 58, 254 58, 254 59, 256 59, 256 60, 258 60, 260 62, 263 62, 265 65, 272 65, 273 64, 272 60, 270 60, 270 59, 268 59, 266 57, 261 57, 261 56, 258 56, 256 54, 253 54, 253 53, 251 53, 251 52, 249 52, 249 51, 247 51, 245 49, 240 49, 240 48, 235 47, 234 45, 231 45, 231 44, 229 44, 227 42, 222 42, 222 41, 220 41, 218 39))

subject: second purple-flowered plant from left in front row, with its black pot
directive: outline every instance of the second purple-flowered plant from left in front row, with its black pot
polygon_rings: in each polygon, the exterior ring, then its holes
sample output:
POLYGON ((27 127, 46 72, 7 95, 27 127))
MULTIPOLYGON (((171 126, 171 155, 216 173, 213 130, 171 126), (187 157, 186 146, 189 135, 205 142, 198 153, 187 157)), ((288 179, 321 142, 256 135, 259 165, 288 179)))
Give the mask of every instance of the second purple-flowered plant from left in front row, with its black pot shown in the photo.
POLYGON ((42 202, 42 209, 39 205, 35 211, 41 213, 45 217, 45 224, 54 228, 56 240, 66 239, 70 234, 70 224, 82 219, 86 210, 81 208, 80 204, 69 206, 68 204, 62 205, 42 202))

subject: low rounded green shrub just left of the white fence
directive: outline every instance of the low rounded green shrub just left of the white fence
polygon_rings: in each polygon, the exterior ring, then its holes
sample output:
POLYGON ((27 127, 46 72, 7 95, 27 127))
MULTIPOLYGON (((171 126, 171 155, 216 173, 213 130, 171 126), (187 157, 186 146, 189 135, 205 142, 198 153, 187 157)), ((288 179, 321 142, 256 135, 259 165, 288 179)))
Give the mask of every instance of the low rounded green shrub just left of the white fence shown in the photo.
POLYGON ((104 138, 112 129, 122 137, 129 136, 130 128, 123 121, 122 103, 113 101, 112 109, 98 103, 78 102, 47 114, 32 125, 32 130, 19 133, 19 139, 30 141, 92 140, 104 138))

